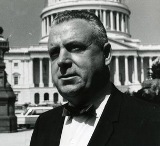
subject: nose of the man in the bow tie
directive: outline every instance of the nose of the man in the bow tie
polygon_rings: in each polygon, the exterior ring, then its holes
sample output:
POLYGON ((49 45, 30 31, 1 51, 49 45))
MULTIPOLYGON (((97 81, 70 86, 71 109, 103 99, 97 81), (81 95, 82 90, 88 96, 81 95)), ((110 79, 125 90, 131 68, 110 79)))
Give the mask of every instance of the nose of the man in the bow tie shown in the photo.
POLYGON ((65 48, 62 48, 60 50, 59 53, 59 57, 58 57, 58 62, 57 62, 59 67, 69 67, 72 64, 71 61, 71 54, 68 50, 66 50, 65 48))

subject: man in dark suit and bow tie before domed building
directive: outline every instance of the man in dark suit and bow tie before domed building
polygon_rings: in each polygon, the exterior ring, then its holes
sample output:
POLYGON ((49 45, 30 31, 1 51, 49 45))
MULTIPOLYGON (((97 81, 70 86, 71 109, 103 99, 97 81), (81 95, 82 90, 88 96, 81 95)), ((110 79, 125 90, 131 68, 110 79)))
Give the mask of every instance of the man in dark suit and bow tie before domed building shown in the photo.
POLYGON ((110 82, 111 46, 87 11, 54 19, 48 41, 55 86, 68 103, 42 114, 30 146, 158 146, 160 110, 110 82))

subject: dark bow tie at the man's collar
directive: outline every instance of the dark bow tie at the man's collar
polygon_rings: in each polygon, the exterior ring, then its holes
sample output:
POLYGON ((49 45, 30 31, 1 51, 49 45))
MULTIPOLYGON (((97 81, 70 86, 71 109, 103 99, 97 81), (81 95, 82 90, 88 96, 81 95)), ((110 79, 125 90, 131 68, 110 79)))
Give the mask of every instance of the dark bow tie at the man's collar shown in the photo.
POLYGON ((65 105, 62 116, 75 117, 80 115, 96 116, 94 106, 90 105, 85 108, 76 108, 76 107, 70 106, 69 104, 65 105))

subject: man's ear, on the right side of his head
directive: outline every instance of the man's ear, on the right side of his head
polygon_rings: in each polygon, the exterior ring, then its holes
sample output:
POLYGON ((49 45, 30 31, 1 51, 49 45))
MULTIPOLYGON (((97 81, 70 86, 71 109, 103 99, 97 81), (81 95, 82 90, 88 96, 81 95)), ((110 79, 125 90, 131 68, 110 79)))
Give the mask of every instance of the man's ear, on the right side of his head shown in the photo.
POLYGON ((104 56, 105 56, 105 65, 109 65, 111 62, 111 59, 112 59, 110 43, 104 44, 103 52, 104 52, 104 56))

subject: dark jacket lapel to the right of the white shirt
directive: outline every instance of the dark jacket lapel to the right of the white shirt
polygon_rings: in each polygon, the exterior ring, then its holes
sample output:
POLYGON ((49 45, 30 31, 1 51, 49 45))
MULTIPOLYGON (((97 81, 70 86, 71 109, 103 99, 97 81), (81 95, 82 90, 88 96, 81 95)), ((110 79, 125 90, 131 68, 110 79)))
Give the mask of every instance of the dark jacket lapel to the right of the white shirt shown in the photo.
POLYGON ((88 146, 104 146, 111 138, 114 129, 113 124, 118 121, 121 95, 114 85, 112 85, 111 96, 104 108, 101 118, 97 124, 97 127, 89 141, 88 146))

